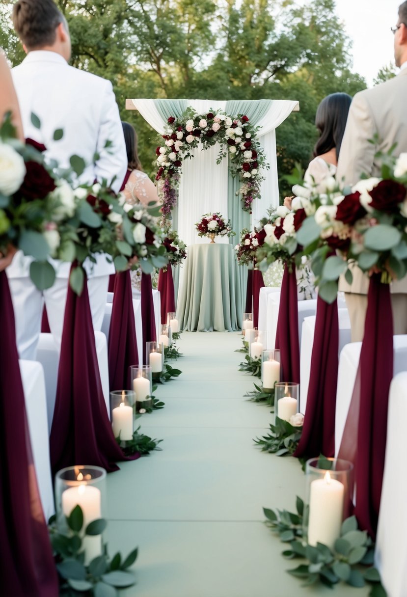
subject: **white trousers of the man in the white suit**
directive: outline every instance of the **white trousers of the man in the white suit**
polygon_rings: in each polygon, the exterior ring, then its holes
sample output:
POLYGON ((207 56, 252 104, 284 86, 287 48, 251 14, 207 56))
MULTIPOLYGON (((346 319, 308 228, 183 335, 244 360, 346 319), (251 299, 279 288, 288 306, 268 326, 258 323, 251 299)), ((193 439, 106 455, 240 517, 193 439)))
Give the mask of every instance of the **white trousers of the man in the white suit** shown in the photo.
MULTIPOLYGON (((57 278, 52 288, 41 291, 30 278, 9 278, 11 300, 16 318, 16 340, 20 359, 35 361, 41 333, 42 309, 47 307, 48 322, 54 341, 61 347, 68 279, 57 278)), ((95 331, 100 331, 106 307, 109 276, 88 279, 88 293, 95 331)))

